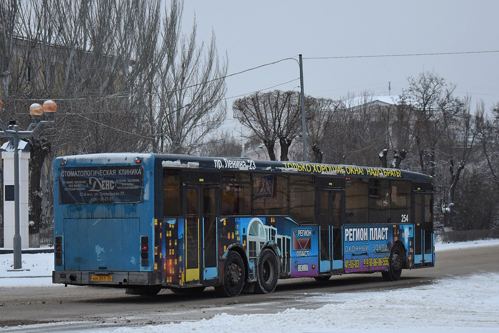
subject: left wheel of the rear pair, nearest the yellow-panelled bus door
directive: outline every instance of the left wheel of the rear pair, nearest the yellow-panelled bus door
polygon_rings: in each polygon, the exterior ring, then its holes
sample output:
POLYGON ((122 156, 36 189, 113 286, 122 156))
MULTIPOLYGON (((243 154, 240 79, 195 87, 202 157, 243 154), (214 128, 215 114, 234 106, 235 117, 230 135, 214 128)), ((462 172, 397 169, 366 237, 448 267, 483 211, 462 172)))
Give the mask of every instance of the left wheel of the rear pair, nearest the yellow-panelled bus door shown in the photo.
POLYGON ((230 251, 224 264, 224 284, 215 291, 224 297, 236 297, 245 286, 245 263, 236 251, 230 251))

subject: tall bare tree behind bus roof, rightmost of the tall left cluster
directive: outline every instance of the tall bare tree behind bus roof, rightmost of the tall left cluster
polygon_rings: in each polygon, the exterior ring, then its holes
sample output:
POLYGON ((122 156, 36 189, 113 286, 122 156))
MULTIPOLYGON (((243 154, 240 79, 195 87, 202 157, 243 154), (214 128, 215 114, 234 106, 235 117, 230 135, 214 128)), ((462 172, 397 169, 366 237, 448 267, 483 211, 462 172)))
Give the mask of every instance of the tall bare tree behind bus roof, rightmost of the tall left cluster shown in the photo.
MULTIPOLYGON (((173 4, 172 4, 173 6, 173 4)), ((181 17, 183 5, 179 7, 181 17)), ((179 20, 180 24, 180 20, 179 20)), ((215 33, 206 51, 197 45, 197 23, 190 35, 176 34, 160 73, 156 149, 192 153, 222 125, 227 114, 227 60, 220 61, 215 33)))

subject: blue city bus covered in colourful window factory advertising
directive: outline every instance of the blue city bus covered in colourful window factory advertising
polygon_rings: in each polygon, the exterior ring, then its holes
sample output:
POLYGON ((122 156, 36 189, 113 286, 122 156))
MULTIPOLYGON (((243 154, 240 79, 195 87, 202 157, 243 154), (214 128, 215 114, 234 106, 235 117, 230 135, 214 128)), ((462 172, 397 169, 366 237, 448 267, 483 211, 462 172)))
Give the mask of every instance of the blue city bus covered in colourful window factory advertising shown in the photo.
POLYGON ((54 162, 53 283, 271 293, 433 267, 433 185, 398 169, 142 153, 54 162))

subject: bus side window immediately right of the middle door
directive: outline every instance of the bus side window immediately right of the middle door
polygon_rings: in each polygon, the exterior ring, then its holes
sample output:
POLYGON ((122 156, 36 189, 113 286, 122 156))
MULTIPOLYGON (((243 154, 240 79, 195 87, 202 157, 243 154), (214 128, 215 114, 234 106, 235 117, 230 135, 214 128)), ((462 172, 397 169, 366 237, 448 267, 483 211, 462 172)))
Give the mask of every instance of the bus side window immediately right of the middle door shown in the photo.
POLYGON ((361 224, 367 221, 367 179, 351 178, 345 181, 345 223, 361 224))

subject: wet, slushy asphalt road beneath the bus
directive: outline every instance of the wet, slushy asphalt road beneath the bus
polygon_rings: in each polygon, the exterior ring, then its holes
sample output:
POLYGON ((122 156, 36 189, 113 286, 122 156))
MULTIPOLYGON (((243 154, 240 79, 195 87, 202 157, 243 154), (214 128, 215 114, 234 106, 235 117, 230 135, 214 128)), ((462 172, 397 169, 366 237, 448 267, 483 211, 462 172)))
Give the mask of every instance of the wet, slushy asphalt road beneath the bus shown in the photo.
POLYGON ((324 304, 311 296, 409 288, 448 277, 499 273, 498 253, 499 246, 441 251, 436 254, 436 267, 404 270, 396 282, 383 281, 380 273, 333 276, 327 282, 289 279, 280 280, 272 294, 241 294, 237 298, 219 298, 213 288, 191 296, 162 290, 149 298, 125 295, 123 289, 99 287, 0 288, 0 331, 46 332, 47 327, 26 330, 17 325, 53 323, 50 331, 63 332, 199 321, 221 313, 261 314, 288 308, 315 309, 324 304), (60 322, 72 324, 58 327, 56 323, 60 322))

